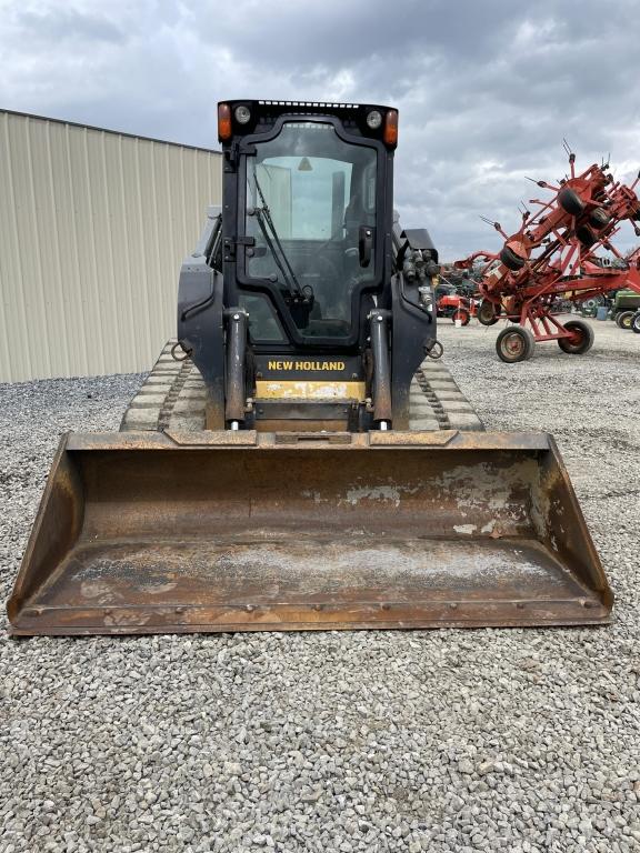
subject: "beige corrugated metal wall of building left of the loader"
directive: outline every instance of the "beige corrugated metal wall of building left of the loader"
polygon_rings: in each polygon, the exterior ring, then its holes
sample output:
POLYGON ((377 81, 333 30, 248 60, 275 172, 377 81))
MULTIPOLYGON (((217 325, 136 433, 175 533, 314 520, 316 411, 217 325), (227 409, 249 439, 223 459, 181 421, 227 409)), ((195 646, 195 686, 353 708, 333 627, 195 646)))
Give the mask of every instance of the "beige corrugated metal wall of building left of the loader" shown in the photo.
POLYGON ((0 381, 151 367, 220 160, 0 111, 0 381))

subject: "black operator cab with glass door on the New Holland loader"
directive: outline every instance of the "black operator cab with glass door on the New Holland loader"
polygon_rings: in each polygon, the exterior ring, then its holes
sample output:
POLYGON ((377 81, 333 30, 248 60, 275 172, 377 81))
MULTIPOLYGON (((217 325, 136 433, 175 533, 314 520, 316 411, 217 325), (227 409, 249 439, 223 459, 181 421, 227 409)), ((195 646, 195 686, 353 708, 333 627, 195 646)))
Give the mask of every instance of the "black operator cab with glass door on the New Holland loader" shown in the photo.
POLYGON ((390 274, 397 127, 386 107, 219 104, 223 203, 236 219, 224 281, 229 303, 249 315, 253 345, 360 343, 390 274))

